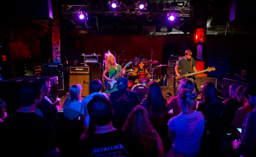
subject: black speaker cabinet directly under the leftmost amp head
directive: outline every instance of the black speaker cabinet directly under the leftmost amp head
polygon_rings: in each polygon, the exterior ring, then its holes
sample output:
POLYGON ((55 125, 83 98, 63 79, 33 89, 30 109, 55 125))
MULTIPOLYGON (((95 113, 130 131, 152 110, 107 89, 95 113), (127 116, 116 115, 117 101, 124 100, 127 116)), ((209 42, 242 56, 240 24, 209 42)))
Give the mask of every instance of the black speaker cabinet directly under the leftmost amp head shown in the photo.
POLYGON ((58 90, 64 90, 64 71, 46 70, 42 71, 42 76, 58 76, 58 90))

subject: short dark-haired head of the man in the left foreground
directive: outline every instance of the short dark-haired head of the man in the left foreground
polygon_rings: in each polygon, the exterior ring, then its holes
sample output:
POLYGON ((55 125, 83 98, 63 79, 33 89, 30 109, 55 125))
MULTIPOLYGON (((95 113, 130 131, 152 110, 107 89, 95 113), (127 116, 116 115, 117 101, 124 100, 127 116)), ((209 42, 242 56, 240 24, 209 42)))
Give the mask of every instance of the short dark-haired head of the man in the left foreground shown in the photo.
POLYGON ((31 106, 35 103, 35 99, 38 99, 37 104, 41 103, 42 89, 41 84, 37 82, 28 82, 23 84, 19 90, 19 101, 21 106, 31 106))

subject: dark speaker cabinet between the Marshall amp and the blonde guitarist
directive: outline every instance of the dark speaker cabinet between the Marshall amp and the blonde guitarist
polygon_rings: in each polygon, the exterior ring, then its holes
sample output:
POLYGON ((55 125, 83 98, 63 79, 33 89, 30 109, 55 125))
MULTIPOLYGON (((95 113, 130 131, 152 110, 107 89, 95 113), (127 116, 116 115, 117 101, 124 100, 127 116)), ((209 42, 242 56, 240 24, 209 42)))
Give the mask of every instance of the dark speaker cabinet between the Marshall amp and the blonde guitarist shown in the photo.
POLYGON ((90 80, 98 78, 102 80, 102 64, 101 63, 87 63, 90 67, 90 80))

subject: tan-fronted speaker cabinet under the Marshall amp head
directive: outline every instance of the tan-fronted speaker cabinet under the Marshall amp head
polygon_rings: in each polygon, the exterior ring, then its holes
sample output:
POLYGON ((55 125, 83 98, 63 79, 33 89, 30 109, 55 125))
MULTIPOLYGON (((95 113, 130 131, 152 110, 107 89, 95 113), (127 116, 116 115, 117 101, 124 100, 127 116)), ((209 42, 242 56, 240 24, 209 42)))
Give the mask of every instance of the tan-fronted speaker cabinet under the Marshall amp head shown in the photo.
POLYGON ((89 95, 89 83, 90 83, 90 75, 85 75, 85 74, 70 74, 69 78, 69 87, 72 84, 81 84, 82 85, 82 92, 81 96, 85 97, 89 95))

